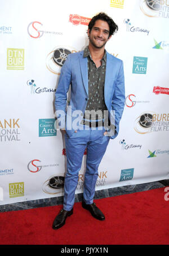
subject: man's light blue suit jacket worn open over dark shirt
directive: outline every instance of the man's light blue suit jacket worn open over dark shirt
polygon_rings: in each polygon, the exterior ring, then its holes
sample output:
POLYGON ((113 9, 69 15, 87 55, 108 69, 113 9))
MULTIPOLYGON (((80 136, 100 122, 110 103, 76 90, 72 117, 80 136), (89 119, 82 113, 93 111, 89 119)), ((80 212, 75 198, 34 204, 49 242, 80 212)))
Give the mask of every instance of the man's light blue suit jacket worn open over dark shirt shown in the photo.
MULTIPOLYGON (((69 54, 63 67, 61 68, 59 83, 55 94, 56 116, 60 117, 60 128, 66 129, 66 133, 70 137, 74 130, 69 129, 70 122, 77 118, 73 111, 80 110, 81 115, 79 121, 82 120, 84 111, 86 110, 88 99, 88 69, 87 57, 83 58, 83 51, 79 53, 69 54), (71 84, 71 95, 68 110, 66 110, 67 92, 71 84), (61 116, 60 116, 60 113, 61 116), (64 113, 64 115, 63 115, 64 113), (66 119, 65 119, 66 116, 66 119), (68 117, 71 116, 71 121, 68 117), (66 124, 65 124, 66 120, 66 124)), ((112 127, 115 125, 115 132, 110 138, 115 138, 119 131, 119 121, 121 120, 125 93, 124 93, 124 72, 122 60, 115 58, 106 51, 106 73, 104 85, 104 101, 109 111, 109 119, 112 116, 112 127), (112 110, 115 111, 115 117, 112 110)), ((110 126, 111 127, 111 126, 110 126)))

